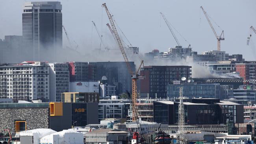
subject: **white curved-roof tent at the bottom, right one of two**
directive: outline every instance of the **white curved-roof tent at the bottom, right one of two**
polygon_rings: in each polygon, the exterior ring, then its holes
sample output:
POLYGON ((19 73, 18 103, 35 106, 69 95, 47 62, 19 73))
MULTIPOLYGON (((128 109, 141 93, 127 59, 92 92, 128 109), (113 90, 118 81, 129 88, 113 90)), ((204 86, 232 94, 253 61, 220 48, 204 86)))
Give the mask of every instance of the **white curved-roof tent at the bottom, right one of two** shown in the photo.
POLYGON ((40 143, 48 144, 83 144, 83 133, 78 133, 72 129, 59 131, 46 135, 40 139, 40 143))

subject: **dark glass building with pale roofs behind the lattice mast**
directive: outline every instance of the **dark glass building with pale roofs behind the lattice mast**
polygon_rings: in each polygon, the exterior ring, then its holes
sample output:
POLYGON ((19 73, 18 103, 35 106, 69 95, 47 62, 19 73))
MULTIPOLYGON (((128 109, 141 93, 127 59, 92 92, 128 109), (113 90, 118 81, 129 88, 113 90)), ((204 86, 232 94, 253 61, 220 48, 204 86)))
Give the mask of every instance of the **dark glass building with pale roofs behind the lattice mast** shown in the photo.
MULTIPOLYGON (((243 123, 243 105, 219 99, 184 100, 185 124, 243 123)), ((179 102, 154 101, 154 121, 178 124, 179 102)))

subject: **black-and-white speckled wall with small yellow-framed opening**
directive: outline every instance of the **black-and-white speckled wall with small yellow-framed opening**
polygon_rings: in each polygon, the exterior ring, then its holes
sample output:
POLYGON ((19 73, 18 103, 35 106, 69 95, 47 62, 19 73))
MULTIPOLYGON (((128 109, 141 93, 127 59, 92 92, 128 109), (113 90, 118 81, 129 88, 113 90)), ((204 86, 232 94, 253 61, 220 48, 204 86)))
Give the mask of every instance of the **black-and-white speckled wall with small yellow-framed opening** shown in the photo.
POLYGON ((15 132, 15 121, 26 121, 26 129, 49 128, 49 108, 0 109, 0 131, 15 132))

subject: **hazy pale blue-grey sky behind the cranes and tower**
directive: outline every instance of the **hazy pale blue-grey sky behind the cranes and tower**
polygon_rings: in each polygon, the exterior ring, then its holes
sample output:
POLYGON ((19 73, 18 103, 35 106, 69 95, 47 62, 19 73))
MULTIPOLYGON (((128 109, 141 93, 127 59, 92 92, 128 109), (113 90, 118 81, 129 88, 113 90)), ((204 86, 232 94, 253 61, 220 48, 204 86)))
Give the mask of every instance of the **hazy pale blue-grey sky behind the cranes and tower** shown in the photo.
MULTIPOLYGON (((49 0, 48 0, 49 1, 49 0)), ((256 0, 59 0, 62 4, 63 25, 69 37, 79 45, 78 51, 100 47, 100 38, 92 25, 95 22, 105 47, 117 48, 106 23, 109 23, 102 4, 106 3, 118 26, 132 46, 141 53, 158 49, 166 52, 176 45, 162 12, 174 26, 173 30, 183 47, 191 44, 198 53, 217 50, 213 34, 200 6, 203 6, 217 35, 224 30, 221 50, 228 54, 243 54, 246 60, 256 60, 256 0), (216 24, 218 25, 216 25, 216 24), (219 27, 218 27, 219 26, 219 27), (180 34, 182 36, 180 36, 180 34), (247 37, 252 34, 249 46, 247 37), (186 39, 186 41, 183 39, 186 39)), ((22 4, 28 0, 1 0, 0 39, 4 35, 22 35, 22 4)), ((119 33, 121 31, 119 30, 119 33)), ((121 35, 121 34, 120 34, 121 35)), ((128 44, 128 41, 122 39, 128 44)), ((68 45, 63 32, 63 46, 68 45)), ((74 42, 73 42, 73 45, 74 42)))

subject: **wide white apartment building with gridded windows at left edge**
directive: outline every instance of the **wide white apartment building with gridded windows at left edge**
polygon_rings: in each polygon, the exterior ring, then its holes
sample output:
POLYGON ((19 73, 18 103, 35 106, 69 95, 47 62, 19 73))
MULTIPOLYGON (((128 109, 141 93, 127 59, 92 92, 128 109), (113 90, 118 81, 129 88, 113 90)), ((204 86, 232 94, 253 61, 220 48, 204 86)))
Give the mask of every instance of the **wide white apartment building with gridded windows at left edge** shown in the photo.
POLYGON ((50 66, 42 62, 0 66, 0 97, 50 100, 50 66))

